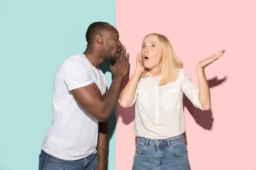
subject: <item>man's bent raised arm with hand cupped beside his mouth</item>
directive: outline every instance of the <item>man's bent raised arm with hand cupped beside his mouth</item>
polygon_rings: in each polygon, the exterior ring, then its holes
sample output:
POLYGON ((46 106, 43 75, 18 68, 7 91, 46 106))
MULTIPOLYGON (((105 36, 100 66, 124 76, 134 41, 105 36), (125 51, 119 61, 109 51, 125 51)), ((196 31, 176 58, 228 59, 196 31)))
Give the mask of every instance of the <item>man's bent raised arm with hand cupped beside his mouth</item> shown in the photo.
POLYGON ((93 82, 72 91, 79 105, 99 122, 106 122, 116 105, 121 91, 123 77, 126 76, 129 68, 129 54, 126 57, 126 48, 122 48, 116 63, 110 69, 114 78, 108 91, 103 94, 98 86, 93 82))

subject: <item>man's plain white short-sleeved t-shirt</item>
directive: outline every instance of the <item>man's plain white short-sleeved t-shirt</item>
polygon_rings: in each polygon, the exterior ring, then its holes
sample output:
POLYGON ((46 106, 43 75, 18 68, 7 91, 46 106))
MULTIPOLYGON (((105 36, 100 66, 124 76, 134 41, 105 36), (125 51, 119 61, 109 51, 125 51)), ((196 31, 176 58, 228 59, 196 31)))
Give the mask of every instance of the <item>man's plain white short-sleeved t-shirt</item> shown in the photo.
POLYGON ((78 160, 96 153, 98 120, 84 111, 72 90, 95 82, 102 95, 107 79, 84 54, 71 55, 58 68, 54 78, 52 125, 41 149, 64 160, 78 160))

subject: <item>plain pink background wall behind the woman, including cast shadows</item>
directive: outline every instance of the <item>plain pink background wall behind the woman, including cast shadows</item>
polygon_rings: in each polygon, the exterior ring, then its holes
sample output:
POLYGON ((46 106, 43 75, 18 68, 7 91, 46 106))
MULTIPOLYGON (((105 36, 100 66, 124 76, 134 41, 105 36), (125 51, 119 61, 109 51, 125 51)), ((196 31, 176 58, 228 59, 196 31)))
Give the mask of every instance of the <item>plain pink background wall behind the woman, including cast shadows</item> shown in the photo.
MULTIPOLYGON (((195 85, 198 62, 226 50, 206 68, 211 110, 184 100, 192 170, 256 170, 255 6, 253 0, 116 0, 116 28, 130 52, 130 77, 143 37, 151 32, 169 38, 195 85)), ((134 106, 117 104, 116 116, 116 170, 131 170, 134 106)))

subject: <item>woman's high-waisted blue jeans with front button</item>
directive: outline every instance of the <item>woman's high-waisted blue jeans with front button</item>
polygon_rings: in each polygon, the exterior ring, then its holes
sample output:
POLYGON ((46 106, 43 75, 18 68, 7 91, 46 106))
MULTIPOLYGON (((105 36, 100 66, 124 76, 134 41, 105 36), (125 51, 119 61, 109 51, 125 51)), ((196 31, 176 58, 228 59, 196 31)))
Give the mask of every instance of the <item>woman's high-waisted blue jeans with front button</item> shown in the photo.
POLYGON ((190 170, 184 136, 156 140, 138 137, 132 170, 190 170))

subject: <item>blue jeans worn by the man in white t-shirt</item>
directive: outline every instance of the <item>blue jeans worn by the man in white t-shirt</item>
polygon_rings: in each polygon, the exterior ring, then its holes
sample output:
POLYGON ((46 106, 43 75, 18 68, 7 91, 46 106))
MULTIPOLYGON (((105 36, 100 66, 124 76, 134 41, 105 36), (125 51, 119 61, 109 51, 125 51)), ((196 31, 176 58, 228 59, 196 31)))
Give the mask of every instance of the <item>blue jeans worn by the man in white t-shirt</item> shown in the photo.
POLYGON ((93 153, 84 159, 67 161, 55 158, 41 150, 38 170, 94 170, 98 165, 98 154, 93 153))

